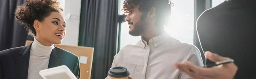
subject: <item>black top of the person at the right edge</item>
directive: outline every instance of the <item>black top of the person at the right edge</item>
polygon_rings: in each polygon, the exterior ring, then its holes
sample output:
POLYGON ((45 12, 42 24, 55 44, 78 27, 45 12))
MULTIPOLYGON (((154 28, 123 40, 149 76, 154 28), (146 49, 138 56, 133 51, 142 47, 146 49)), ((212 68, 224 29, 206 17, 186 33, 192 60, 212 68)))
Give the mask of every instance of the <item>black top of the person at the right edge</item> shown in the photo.
MULTIPOLYGON (((235 60, 235 79, 256 79, 256 0, 231 0, 205 11, 197 30, 204 51, 235 60)), ((212 63, 207 60, 206 64, 212 63)))

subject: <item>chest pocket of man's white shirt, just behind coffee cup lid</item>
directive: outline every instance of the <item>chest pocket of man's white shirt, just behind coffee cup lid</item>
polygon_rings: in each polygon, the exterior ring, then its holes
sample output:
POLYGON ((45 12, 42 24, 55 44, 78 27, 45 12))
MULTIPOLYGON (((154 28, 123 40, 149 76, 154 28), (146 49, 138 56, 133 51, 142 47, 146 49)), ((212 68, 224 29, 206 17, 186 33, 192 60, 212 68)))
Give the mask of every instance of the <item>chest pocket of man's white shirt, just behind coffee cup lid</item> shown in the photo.
POLYGON ((128 70, 129 73, 130 73, 129 76, 130 76, 131 78, 133 78, 136 64, 128 64, 128 63, 121 62, 121 63, 118 64, 118 66, 122 66, 122 67, 127 68, 127 70, 128 70))

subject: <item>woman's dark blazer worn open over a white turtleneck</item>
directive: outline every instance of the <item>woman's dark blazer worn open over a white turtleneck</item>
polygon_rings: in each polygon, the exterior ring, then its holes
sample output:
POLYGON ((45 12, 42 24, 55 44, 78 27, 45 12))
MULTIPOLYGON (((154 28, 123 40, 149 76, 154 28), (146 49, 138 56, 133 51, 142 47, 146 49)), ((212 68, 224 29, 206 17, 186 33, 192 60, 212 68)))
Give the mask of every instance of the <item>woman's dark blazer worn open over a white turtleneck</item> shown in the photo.
MULTIPOLYGON (((27 79, 31 45, 0 51, 0 79, 27 79)), ((75 76, 80 77, 78 56, 55 47, 48 68, 66 65, 75 76)))

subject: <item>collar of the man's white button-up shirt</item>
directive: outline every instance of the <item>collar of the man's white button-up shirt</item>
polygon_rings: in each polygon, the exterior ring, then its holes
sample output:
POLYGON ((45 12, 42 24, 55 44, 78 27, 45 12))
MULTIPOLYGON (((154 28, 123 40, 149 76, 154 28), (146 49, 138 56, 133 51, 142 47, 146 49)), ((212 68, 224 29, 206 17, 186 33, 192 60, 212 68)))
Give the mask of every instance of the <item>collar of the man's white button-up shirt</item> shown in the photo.
MULTIPOLYGON (((152 39, 150 39, 148 41, 148 43, 153 43, 154 48, 157 48, 159 45, 163 44, 164 42, 166 42, 171 36, 167 33, 164 32, 163 34, 160 34, 156 37, 153 37, 152 39)), ((143 38, 141 37, 141 44, 142 46, 145 48, 147 45, 147 42, 145 40, 143 40, 143 38)))

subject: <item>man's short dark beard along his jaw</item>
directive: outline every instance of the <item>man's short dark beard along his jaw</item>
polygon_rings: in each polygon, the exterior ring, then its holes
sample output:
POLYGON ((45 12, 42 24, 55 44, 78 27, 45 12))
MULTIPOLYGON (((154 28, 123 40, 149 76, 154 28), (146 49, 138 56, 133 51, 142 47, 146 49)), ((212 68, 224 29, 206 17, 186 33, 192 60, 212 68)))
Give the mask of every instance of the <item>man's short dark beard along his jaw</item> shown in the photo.
POLYGON ((140 21, 137 24, 134 24, 134 30, 129 31, 131 36, 140 36, 141 33, 145 30, 145 17, 141 17, 140 21))

